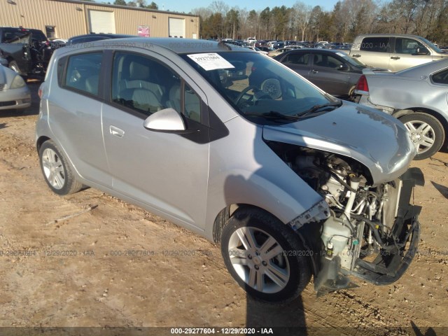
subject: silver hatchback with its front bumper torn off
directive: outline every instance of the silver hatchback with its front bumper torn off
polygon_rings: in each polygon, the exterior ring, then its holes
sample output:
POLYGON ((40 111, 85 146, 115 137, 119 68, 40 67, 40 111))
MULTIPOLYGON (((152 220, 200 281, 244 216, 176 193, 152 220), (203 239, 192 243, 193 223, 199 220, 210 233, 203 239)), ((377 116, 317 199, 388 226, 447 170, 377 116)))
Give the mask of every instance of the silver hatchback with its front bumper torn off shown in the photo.
POLYGON ((358 277, 396 281, 416 253, 423 183, 395 118, 342 102, 258 52, 126 38, 57 50, 36 146, 59 195, 92 186, 221 244, 260 300, 358 277))

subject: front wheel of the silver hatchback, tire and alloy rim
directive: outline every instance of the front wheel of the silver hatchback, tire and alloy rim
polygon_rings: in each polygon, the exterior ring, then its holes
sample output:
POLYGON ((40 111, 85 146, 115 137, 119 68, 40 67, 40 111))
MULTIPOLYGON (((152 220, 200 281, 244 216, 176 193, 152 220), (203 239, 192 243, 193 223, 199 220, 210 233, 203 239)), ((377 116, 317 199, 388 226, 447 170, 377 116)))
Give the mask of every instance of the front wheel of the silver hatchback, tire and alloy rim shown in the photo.
POLYGON ((258 300, 289 302, 311 279, 311 251, 291 228, 259 209, 238 210, 230 217, 221 253, 239 286, 258 300))

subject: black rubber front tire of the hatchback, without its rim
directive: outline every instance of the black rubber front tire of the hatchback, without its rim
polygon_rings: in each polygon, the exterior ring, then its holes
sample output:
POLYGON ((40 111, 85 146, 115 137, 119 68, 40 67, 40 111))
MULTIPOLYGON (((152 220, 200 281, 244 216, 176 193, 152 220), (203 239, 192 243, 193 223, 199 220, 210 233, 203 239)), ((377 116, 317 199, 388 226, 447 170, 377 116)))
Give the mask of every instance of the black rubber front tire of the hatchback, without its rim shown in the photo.
POLYGON ((274 216, 259 213, 258 211, 251 211, 242 214, 239 213, 232 216, 227 225, 223 228, 223 233, 221 235, 221 253, 228 271, 235 281, 237 281, 239 286, 244 288, 246 292, 248 292, 255 299, 264 302, 288 302, 298 297, 304 287, 307 286, 307 283, 311 277, 308 258, 304 255, 293 255, 293 253, 288 253, 288 251, 296 251, 297 249, 304 251, 302 242, 292 229, 286 227, 274 216), (278 225, 279 230, 277 230, 276 225, 278 225), (285 288, 279 292, 261 293, 260 291, 255 290, 251 286, 248 286, 248 284, 239 277, 232 266, 228 253, 230 237, 235 230, 242 227, 258 228, 267 232, 267 234, 276 239, 276 241, 283 248, 283 251, 286 252, 286 258, 288 259, 290 267, 290 276, 285 288), (285 237, 285 232, 288 237, 285 237))

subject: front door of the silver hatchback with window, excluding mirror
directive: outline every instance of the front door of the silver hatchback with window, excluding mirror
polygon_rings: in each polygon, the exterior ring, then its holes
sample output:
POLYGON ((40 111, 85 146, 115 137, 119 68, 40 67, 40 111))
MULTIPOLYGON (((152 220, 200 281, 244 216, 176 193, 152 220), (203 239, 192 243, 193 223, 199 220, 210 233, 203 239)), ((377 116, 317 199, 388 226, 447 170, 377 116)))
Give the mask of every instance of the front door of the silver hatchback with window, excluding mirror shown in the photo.
POLYGON ((168 107, 183 113, 187 125, 201 120, 200 97, 161 60, 130 52, 113 56, 111 102, 102 115, 113 189, 174 223, 203 229, 208 141, 144 128, 148 116, 168 107))

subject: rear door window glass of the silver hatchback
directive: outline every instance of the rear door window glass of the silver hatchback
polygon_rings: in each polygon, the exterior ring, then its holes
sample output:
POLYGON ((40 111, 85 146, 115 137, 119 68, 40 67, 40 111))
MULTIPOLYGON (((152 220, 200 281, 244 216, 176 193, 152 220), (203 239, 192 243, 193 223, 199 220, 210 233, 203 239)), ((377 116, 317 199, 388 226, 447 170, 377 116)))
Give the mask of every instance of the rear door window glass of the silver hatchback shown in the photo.
POLYGON ((70 56, 63 86, 97 96, 102 55, 102 52, 89 52, 70 56))

